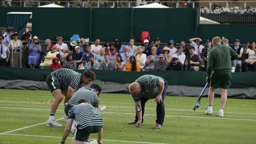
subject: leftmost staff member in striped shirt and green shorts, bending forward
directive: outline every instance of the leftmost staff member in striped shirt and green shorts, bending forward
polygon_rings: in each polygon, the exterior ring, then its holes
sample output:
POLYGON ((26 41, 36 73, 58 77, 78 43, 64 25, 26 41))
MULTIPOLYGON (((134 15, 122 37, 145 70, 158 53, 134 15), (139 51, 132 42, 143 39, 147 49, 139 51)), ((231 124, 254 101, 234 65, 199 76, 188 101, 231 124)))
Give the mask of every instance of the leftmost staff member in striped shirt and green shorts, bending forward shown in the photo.
MULTIPOLYGON (((72 97, 75 89, 78 90, 78 88, 90 84, 91 81, 94 81, 95 79, 95 74, 90 70, 85 70, 83 74, 80 74, 71 69, 62 68, 50 73, 46 78, 46 83, 55 99, 52 102, 51 113, 49 120, 47 120, 46 126, 62 126, 54 120, 55 112, 63 99, 62 94, 65 96, 65 105, 72 97)), ((67 118, 64 117, 64 121, 66 121, 65 119, 67 118)))

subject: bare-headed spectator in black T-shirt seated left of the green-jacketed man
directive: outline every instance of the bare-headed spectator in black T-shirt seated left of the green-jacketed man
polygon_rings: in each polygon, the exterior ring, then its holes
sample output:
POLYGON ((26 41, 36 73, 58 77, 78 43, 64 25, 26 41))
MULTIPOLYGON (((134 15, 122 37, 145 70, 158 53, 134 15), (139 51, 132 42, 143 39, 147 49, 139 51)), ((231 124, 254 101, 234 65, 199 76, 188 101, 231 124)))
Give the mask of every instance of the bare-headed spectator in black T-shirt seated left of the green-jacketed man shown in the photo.
POLYGON ((189 55, 186 56, 186 59, 189 59, 189 63, 194 68, 195 71, 199 71, 198 65, 200 64, 200 58, 195 53, 195 48, 193 46, 188 47, 189 55))

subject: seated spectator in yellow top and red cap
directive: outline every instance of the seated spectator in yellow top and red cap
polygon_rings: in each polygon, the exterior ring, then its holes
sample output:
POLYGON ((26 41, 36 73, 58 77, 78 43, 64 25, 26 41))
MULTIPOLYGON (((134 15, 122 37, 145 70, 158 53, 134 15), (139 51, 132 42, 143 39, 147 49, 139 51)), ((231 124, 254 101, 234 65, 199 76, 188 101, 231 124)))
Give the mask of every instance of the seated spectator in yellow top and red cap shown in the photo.
POLYGON ((58 57, 58 60, 59 60, 60 59, 60 52, 57 51, 57 46, 53 45, 52 46, 52 51, 47 52, 47 55, 44 56, 44 62, 40 63, 39 66, 50 66, 55 57, 58 57))

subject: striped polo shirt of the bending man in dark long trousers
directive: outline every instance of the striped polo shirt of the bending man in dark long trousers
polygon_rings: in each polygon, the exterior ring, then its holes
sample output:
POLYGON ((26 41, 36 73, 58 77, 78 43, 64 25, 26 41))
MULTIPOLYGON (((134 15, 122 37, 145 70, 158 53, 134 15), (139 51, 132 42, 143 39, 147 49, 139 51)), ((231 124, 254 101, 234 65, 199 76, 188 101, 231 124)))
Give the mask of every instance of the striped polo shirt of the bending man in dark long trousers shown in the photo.
POLYGON ((138 82, 141 86, 141 93, 138 95, 132 95, 135 102, 140 101, 141 97, 153 99, 158 93, 159 79, 163 79, 154 75, 143 75, 139 77, 135 82, 138 82))

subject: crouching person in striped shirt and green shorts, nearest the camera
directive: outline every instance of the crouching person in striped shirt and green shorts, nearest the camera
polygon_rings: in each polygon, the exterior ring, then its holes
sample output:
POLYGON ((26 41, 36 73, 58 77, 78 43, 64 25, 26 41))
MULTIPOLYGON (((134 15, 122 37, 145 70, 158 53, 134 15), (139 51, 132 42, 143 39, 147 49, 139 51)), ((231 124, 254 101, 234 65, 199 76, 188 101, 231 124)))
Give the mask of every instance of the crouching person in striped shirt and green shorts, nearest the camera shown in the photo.
POLYGON ((60 144, 65 143, 74 119, 77 121, 77 130, 72 144, 83 144, 91 133, 98 133, 97 142, 102 144, 103 120, 85 98, 79 99, 77 105, 69 110, 67 125, 60 144))

